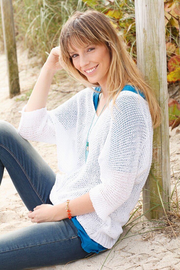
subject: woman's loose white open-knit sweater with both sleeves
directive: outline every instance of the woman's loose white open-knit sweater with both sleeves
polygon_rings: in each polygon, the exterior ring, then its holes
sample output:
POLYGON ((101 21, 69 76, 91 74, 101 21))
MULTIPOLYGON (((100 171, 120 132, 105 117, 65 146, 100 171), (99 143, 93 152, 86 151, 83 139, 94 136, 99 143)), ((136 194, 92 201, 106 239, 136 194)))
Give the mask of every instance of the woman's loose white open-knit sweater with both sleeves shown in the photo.
POLYGON ((26 140, 57 145, 59 170, 50 193, 53 205, 87 192, 95 212, 77 216, 89 237, 111 248, 123 232, 148 177, 152 161, 153 128, 147 101, 122 91, 97 120, 93 90, 81 90, 56 109, 24 112, 18 133, 26 140), (97 122, 96 122, 97 120, 97 122), (95 126, 94 123, 96 122, 95 126), (94 126, 94 127, 93 127, 94 126))

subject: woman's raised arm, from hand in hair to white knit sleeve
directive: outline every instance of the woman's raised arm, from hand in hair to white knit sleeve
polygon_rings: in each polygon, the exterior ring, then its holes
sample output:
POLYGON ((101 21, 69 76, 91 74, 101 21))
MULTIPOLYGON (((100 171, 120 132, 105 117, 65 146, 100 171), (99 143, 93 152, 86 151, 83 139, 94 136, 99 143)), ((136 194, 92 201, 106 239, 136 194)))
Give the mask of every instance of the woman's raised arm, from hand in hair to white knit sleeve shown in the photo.
MULTIPOLYGON (((63 117, 66 103, 51 111, 47 111, 45 106, 53 75, 57 70, 62 69, 59 64, 59 51, 59 47, 51 50, 41 69, 28 103, 19 111, 22 116, 18 126, 18 133, 26 140, 56 143, 55 123, 60 124, 61 119, 59 119, 59 116, 63 117)), ((72 103, 72 101, 69 102, 72 103)))

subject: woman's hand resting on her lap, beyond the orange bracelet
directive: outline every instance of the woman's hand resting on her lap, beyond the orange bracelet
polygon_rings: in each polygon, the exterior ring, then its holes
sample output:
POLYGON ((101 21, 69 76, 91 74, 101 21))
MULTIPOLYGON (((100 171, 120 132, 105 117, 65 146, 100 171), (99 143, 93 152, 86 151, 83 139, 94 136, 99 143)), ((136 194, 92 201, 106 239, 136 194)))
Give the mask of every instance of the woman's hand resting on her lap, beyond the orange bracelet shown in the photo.
POLYGON ((31 219, 31 222, 51 222, 51 221, 59 221, 59 217, 57 217, 57 210, 55 205, 52 204, 41 204, 36 206, 34 211, 29 211, 28 218, 31 219))

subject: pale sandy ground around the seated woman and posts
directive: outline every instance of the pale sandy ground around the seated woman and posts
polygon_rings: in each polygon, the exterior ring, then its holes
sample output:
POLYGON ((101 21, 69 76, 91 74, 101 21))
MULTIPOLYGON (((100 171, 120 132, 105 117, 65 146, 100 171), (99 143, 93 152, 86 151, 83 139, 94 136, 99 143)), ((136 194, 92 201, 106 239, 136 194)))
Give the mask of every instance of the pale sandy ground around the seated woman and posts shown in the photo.
MULTIPOLYGON (((27 103, 26 101, 16 101, 25 94, 30 88, 33 88, 39 76, 40 64, 38 59, 28 59, 28 51, 21 50, 17 47, 19 79, 21 87, 21 95, 9 99, 8 76, 6 68, 6 57, 0 55, 0 119, 6 120, 18 128, 21 114, 19 110, 27 103)), ((72 79, 63 80, 60 86, 52 83, 47 100, 47 109, 53 109, 60 103, 69 99, 74 95, 75 91, 81 90, 84 87, 72 79), (60 91, 70 91, 62 93, 60 91)), ((172 168, 174 170, 175 179, 179 177, 179 138, 178 127, 171 131, 170 134, 170 161, 171 161, 171 190, 174 188, 174 178, 172 168)), ((45 159, 49 166, 57 173, 57 156, 56 146, 52 144, 39 143, 30 141, 39 154, 45 159)), ((142 194, 141 194, 142 196, 142 194)), ((19 197, 15 187, 12 184, 11 178, 7 171, 4 171, 4 176, 0 186, 0 234, 6 234, 10 231, 33 225, 28 218, 28 210, 19 197)), ((140 201, 141 201, 140 197, 140 201)), ((142 220, 142 219, 141 219, 142 220)), ((145 218, 143 217, 143 220, 145 218)), ((142 228, 142 223, 133 227, 128 233, 136 234, 136 231, 142 228)), ((123 232, 122 236, 125 235, 123 232)), ((109 251, 99 254, 85 260, 71 262, 67 265, 57 265, 45 268, 36 269, 136 269, 136 270, 156 270, 156 269, 180 269, 180 237, 167 238, 163 233, 154 234, 153 232, 148 237, 143 235, 135 235, 120 241, 117 247, 111 251, 108 259, 104 263, 109 251)))

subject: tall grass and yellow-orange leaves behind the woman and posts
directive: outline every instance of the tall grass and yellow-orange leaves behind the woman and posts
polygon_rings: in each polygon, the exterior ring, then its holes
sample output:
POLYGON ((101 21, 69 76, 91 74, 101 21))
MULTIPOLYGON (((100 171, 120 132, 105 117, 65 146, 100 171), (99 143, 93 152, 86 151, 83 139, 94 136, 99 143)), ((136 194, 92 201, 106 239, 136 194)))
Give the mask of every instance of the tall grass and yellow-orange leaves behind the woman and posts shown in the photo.
MULTIPOLYGON (((42 65, 50 50, 57 46, 61 27, 73 10, 92 8, 114 19, 127 41, 127 49, 137 61, 134 0, 12 0, 16 42, 38 56, 42 65)), ((180 0, 164 0, 167 48, 167 79, 180 81, 180 0)), ((4 52, 0 15, 0 51, 4 52)))

